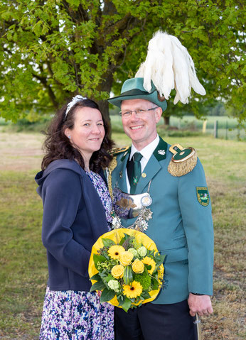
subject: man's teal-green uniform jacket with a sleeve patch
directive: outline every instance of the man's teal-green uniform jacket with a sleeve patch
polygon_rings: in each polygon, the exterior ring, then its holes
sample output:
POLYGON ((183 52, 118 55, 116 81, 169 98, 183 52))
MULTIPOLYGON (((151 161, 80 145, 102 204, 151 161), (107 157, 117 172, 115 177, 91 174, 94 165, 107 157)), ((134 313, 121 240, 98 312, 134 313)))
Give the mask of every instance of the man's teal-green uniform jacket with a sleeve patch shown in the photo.
MULTIPOLYGON (((172 153, 160 138, 137 184, 135 194, 147 192, 153 199, 148 207, 153 212, 149 228, 145 231, 156 243, 164 261, 164 288, 154 300, 156 304, 169 304, 186 300, 189 292, 213 294, 213 220, 211 204, 198 202, 197 188, 207 187, 203 166, 196 167, 181 177, 168 172, 172 153), (159 151, 159 152, 158 152, 159 151), (145 176, 145 175, 144 175, 145 176)), ((127 192, 126 166, 129 151, 117 155, 117 168, 112 172, 112 187, 117 184, 127 192)), ((122 226, 135 219, 122 219, 122 226)))

